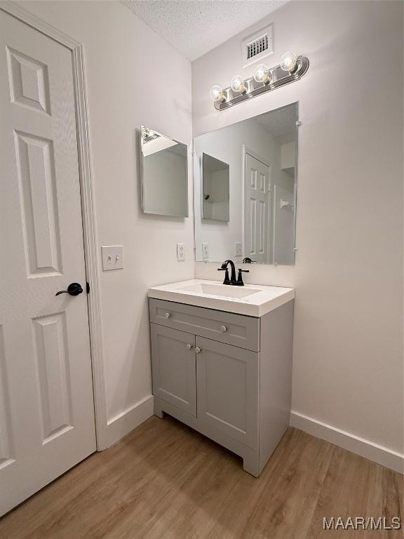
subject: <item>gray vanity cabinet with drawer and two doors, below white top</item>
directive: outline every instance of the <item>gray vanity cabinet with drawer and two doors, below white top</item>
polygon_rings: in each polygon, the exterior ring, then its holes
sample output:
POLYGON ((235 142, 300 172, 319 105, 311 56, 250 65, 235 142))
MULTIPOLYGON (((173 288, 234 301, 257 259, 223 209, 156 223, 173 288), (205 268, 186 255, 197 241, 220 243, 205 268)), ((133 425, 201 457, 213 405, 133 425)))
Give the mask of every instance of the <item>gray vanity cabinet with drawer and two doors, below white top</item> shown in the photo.
POLYGON ((256 477, 289 425, 293 300, 262 317, 149 298, 154 413, 243 458, 256 477))

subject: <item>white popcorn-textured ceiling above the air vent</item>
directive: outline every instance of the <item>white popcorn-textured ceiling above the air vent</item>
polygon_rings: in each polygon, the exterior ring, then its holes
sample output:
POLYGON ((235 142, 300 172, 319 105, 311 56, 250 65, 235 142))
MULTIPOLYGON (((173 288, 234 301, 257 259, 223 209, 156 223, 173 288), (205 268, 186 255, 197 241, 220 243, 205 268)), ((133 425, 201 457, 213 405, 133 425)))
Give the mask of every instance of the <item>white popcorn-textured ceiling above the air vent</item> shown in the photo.
POLYGON ((287 0, 121 0, 189 60, 196 60, 287 0))

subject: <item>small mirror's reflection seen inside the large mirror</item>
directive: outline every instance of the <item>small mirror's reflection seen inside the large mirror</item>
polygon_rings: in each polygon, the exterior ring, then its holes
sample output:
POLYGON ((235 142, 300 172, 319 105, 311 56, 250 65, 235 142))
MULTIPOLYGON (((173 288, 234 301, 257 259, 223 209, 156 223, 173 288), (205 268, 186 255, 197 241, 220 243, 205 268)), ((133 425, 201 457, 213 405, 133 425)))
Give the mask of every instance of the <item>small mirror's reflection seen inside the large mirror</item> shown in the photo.
POLYGON ((229 221, 229 171, 229 164, 203 154, 203 219, 229 221))

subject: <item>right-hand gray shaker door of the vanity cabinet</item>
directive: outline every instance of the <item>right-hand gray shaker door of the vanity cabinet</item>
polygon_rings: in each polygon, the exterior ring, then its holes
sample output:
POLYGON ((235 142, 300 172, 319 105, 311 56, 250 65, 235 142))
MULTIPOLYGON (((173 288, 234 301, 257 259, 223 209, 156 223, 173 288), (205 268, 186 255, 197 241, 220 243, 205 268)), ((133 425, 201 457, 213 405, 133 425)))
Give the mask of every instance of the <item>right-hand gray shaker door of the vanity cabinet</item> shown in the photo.
POLYGON ((196 337, 198 419, 256 449, 260 354, 196 337))

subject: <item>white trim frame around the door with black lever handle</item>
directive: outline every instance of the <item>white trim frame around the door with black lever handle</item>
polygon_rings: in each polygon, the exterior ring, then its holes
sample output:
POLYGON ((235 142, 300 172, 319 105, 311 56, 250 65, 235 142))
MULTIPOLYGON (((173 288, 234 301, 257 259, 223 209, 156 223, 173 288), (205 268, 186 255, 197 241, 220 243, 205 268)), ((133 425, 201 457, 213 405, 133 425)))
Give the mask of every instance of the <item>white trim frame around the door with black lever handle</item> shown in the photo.
POLYGON ((105 391, 105 363, 100 309, 100 272, 97 253, 97 229, 95 224, 94 183, 90 159, 90 130, 88 124, 84 47, 83 44, 60 32, 53 26, 48 25, 47 22, 32 15, 29 11, 25 11, 25 9, 11 1, 0 1, 0 9, 72 51, 84 258, 86 278, 90 283, 90 293, 87 295, 87 303, 91 366, 93 371, 95 434, 97 451, 102 451, 108 447, 107 396, 105 391))

